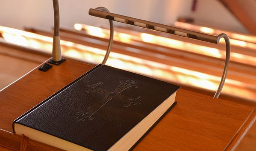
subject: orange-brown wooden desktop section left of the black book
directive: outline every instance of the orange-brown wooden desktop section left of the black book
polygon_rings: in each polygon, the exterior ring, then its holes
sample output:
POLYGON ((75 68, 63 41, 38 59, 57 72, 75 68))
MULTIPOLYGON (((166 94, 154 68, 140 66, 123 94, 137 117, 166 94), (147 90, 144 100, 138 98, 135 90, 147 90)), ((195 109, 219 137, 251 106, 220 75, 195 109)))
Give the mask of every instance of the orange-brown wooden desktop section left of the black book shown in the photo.
POLYGON ((25 113, 93 67, 94 65, 69 59, 61 66, 53 65, 47 72, 35 68, 0 91, 0 128, 12 131, 11 125, 17 115, 25 113))

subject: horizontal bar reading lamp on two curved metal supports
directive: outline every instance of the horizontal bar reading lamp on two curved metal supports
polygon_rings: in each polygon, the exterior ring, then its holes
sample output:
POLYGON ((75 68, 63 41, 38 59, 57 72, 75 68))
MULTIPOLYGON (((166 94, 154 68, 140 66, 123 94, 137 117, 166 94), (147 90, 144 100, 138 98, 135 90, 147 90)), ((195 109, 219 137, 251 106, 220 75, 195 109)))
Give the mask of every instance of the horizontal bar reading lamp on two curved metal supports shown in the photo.
POLYGON ((214 95, 214 98, 218 98, 219 95, 221 94, 221 90, 223 88, 223 85, 224 85, 226 77, 227 77, 227 71, 228 71, 229 62, 230 62, 230 41, 229 41, 227 34, 219 34, 219 35, 215 36, 215 35, 204 34, 204 33, 196 32, 196 31, 189 31, 186 29, 163 25, 160 23, 154 23, 154 22, 140 20, 140 19, 133 18, 133 17, 127 17, 127 16, 123 16, 123 15, 119 15, 119 14, 113 14, 113 13, 109 12, 108 9, 106 9, 104 7, 90 9, 89 14, 92 16, 101 17, 101 18, 110 20, 110 32, 111 32, 110 40, 109 40, 108 49, 107 49, 107 52, 106 52, 106 55, 105 55, 105 58, 104 58, 102 64, 106 63, 109 53, 111 51, 112 43, 113 43, 113 23, 111 22, 112 20, 121 22, 121 23, 127 23, 127 24, 134 25, 134 26, 149 28, 149 29, 153 29, 156 31, 162 31, 162 32, 166 32, 169 34, 175 34, 178 36, 183 36, 183 37, 188 37, 188 38, 197 39, 197 40, 201 40, 201 41, 206 41, 209 43, 218 44, 220 39, 224 38, 224 40, 226 42, 226 60, 225 60, 225 64, 224 64, 224 71, 223 71, 223 74, 221 77, 221 81, 218 86, 218 90, 216 91, 216 93, 214 95))

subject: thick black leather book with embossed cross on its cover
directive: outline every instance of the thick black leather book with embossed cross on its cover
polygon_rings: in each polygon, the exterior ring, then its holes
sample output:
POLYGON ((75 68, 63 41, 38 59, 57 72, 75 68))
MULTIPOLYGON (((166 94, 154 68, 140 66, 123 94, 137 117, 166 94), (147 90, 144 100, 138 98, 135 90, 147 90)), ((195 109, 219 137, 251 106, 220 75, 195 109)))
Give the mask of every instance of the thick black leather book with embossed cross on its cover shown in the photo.
POLYGON ((176 103, 179 88, 98 65, 17 118, 13 131, 64 150, 129 150, 176 103))

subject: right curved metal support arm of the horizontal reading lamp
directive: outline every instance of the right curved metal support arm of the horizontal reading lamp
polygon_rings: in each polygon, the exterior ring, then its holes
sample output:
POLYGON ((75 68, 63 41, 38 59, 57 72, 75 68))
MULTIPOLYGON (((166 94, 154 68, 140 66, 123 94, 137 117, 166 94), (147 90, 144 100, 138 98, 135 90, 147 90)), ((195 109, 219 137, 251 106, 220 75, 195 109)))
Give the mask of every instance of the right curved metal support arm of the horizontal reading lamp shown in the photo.
POLYGON ((224 85, 226 77, 227 77, 227 71, 228 71, 228 66, 229 66, 229 62, 230 62, 230 41, 229 41, 229 38, 228 38, 227 34, 219 34, 217 43, 219 43, 221 38, 224 38, 225 43, 226 43, 226 60, 225 60, 223 74, 222 74, 222 77, 221 77, 221 82, 218 86, 218 90, 216 91, 216 93, 214 95, 214 98, 218 98, 221 94, 221 90, 223 88, 223 85, 224 85))

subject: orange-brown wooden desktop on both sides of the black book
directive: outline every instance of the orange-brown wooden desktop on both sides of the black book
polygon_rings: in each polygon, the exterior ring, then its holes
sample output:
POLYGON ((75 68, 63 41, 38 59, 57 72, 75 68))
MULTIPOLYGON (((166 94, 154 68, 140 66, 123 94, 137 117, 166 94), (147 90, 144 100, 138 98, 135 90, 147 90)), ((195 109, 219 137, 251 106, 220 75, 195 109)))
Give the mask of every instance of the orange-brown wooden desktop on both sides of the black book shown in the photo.
MULTIPOLYGON (((67 59, 47 72, 35 68, 0 91, 0 145, 19 150, 12 121, 93 67, 67 59)), ((177 105, 134 150, 223 150, 228 144, 230 149, 256 117, 256 111, 248 106, 183 89, 177 92, 176 101, 177 105)), ((29 142, 27 150, 40 145, 29 142)))

